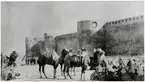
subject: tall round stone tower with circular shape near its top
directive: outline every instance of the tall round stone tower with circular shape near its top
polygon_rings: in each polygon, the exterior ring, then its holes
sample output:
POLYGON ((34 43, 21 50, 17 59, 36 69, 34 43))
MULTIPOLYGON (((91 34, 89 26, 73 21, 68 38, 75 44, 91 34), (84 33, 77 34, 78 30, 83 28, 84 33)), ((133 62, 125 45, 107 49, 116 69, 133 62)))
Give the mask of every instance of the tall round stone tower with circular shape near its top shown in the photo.
POLYGON ((87 49, 89 55, 93 52, 91 36, 96 33, 97 22, 93 20, 79 21, 77 24, 78 50, 87 49))

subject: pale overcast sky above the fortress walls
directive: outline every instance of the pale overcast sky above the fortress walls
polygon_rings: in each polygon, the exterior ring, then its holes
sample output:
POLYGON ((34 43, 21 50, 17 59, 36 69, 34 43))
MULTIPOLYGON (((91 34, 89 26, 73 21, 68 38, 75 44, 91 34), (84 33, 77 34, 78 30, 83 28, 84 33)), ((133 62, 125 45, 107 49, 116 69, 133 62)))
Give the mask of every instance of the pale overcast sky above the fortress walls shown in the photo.
POLYGON ((77 31, 77 21, 105 22, 144 14, 144 2, 2 2, 1 50, 25 52, 25 37, 77 31))

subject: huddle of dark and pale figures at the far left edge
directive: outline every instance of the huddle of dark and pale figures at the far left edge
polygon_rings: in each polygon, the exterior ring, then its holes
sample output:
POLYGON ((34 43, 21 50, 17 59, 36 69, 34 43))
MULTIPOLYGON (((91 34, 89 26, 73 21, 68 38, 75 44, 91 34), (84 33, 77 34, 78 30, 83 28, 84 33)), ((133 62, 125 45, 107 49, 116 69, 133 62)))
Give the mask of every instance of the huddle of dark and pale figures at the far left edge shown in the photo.
POLYGON ((13 51, 10 56, 1 53, 1 78, 2 80, 11 80, 15 79, 16 76, 20 74, 15 70, 16 59, 18 54, 16 51, 13 51))

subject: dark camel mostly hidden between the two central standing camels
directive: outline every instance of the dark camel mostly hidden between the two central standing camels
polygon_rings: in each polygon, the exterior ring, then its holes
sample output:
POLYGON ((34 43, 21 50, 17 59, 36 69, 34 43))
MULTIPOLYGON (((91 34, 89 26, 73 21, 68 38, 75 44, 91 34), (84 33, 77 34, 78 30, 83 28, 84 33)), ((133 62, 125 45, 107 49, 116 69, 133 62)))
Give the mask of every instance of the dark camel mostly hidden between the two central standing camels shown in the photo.
POLYGON ((63 67, 63 64, 64 64, 64 58, 65 56, 68 54, 68 50, 66 48, 64 48, 61 52, 61 56, 59 58, 59 64, 60 64, 60 69, 61 69, 61 75, 63 75, 62 73, 62 67, 63 67))

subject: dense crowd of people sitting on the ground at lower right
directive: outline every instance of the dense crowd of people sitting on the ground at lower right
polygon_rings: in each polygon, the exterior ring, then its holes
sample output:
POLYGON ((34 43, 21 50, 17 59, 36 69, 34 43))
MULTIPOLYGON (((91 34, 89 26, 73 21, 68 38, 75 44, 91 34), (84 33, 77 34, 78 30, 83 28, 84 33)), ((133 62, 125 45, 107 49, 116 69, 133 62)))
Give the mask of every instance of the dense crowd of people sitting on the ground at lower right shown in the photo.
MULTIPOLYGON (((107 59, 107 58, 106 58, 107 59)), ((136 59, 124 59, 118 57, 112 61, 103 60, 106 66, 101 66, 101 63, 96 67, 91 74, 91 80, 102 81, 143 81, 144 80, 144 66, 143 61, 138 62, 136 59), (137 64, 138 63, 138 64, 137 64)))

